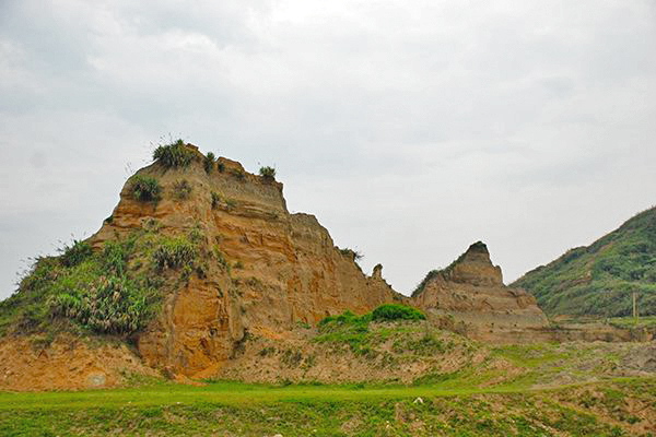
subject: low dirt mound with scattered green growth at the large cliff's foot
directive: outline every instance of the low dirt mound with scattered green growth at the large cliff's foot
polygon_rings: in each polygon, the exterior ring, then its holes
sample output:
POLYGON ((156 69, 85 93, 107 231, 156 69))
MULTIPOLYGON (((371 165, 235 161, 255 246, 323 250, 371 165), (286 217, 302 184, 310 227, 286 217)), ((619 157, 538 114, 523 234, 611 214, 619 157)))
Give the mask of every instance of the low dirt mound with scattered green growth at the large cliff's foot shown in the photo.
MULTIPOLYGON (((251 339, 214 375, 248 382, 402 382, 479 366, 487 349, 429 322, 372 323, 362 340, 347 331, 296 329, 285 339, 251 339)), ((508 374, 512 365, 505 363, 508 374)))

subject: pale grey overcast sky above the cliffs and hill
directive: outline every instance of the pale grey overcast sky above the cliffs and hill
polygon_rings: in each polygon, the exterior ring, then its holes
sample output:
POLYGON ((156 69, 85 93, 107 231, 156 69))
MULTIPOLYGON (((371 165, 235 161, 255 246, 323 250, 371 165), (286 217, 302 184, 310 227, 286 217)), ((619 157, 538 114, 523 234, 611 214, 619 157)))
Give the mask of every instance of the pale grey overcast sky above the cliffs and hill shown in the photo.
POLYGON ((171 134, 274 165, 409 293, 506 282, 656 204, 654 0, 0 0, 0 297, 171 134))

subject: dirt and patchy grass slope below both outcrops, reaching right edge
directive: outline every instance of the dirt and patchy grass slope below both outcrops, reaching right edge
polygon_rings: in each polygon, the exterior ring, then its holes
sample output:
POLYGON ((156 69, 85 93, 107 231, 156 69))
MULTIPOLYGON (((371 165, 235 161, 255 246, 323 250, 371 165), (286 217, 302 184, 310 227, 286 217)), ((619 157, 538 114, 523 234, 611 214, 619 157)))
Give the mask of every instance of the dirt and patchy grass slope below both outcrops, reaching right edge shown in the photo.
POLYGON ((366 331, 296 328, 279 340, 250 338, 238 355, 198 378, 246 382, 438 382, 554 388, 620 377, 656 377, 656 343, 496 345, 425 321, 371 323, 366 331))

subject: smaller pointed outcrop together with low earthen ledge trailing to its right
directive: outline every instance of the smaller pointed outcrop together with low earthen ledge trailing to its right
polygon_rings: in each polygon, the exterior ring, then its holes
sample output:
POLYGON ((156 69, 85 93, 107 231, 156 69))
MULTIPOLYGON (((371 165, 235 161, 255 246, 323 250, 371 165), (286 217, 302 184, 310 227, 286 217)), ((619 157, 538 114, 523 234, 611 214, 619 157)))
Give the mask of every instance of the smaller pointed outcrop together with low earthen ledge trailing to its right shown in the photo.
POLYGON ((532 295, 504 285, 501 268, 492 263, 481 241, 471 245, 448 268, 429 273, 411 304, 423 309, 434 323, 485 342, 652 339, 647 332, 601 323, 551 326, 532 295))

